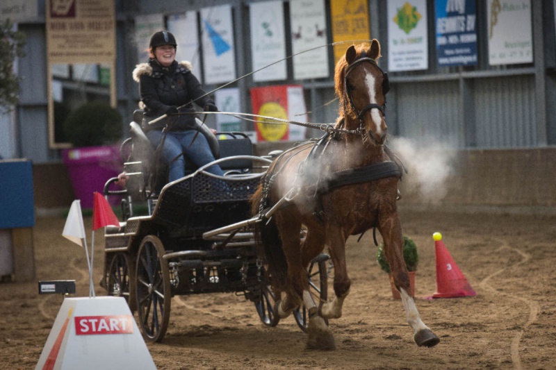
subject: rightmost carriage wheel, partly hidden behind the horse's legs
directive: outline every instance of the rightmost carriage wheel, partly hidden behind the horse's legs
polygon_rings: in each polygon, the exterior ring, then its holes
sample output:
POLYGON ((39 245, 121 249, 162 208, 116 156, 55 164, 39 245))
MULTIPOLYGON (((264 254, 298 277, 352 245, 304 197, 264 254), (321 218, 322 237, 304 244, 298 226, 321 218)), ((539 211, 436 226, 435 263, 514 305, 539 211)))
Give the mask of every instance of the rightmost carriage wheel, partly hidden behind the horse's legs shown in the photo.
MULTIPOLYGON (((309 269, 307 269, 309 292, 311 292, 311 296, 313 296, 313 300, 317 303, 319 310, 328 299, 327 260, 329 260, 329 256, 325 253, 320 253, 316 258, 313 258, 311 264, 309 264, 309 269)), ((293 310, 293 317, 295 317, 297 326, 306 332, 309 327, 309 310, 306 309, 304 304, 300 308, 293 310)), ((325 323, 328 325, 328 319, 325 319, 325 323)))

